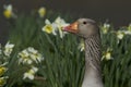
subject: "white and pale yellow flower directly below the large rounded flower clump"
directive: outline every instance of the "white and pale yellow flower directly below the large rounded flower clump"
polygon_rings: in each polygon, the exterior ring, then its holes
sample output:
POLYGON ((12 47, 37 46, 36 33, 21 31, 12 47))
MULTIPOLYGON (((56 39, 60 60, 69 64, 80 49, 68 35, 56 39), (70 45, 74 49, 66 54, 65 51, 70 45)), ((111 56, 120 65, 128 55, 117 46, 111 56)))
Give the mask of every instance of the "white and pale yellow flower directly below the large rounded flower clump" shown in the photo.
POLYGON ((38 69, 33 66, 31 70, 28 70, 26 73, 24 73, 23 79, 25 79, 25 78, 34 79, 34 75, 35 75, 35 73, 37 73, 37 71, 38 71, 38 69))

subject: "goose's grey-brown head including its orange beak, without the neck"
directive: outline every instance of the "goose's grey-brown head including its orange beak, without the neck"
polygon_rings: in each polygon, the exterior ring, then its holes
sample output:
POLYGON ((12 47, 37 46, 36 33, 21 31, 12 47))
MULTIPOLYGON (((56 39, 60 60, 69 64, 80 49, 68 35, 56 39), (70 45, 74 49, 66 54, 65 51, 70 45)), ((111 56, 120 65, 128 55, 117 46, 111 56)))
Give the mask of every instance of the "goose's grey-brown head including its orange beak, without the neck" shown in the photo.
POLYGON ((79 18, 76 22, 63 27, 63 30, 73 33, 83 38, 99 34, 96 22, 91 18, 79 18))

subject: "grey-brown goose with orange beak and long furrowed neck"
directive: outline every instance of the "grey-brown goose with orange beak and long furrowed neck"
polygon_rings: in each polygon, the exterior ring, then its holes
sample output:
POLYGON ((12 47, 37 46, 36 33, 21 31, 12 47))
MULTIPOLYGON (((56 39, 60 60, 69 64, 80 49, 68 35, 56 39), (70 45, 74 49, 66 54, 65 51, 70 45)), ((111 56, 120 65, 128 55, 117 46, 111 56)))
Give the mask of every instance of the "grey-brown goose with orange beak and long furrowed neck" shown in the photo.
POLYGON ((79 18, 62 29, 84 39, 85 72, 82 87, 104 87, 100 69, 100 34, 96 22, 91 18, 79 18))

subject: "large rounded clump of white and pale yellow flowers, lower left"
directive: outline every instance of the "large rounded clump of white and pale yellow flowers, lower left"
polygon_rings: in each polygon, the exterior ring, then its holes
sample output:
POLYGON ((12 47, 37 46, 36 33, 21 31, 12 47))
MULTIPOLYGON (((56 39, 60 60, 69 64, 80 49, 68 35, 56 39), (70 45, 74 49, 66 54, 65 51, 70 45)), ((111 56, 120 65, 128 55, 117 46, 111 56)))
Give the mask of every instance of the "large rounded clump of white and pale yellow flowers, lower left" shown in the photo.
POLYGON ((26 64, 32 64, 33 62, 38 63, 44 60, 43 55, 32 47, 24 49, 22 52, 19 53, 17 57, 20 58, 19 63, 26 64))

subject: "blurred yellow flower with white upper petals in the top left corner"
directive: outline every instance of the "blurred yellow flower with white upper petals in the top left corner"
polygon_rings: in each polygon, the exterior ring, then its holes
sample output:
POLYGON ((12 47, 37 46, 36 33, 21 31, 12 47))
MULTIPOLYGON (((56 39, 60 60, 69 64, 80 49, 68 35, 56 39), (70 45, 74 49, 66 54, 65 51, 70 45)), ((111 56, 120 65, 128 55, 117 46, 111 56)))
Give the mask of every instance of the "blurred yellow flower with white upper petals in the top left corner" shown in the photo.
POLYGON ((4 11, 3 11, 3 15, 7 17, 7 18, 10 18, 12 17, 12 5, 9 4, 9 5, 4 5, 4 11))

